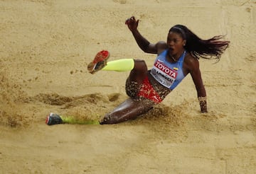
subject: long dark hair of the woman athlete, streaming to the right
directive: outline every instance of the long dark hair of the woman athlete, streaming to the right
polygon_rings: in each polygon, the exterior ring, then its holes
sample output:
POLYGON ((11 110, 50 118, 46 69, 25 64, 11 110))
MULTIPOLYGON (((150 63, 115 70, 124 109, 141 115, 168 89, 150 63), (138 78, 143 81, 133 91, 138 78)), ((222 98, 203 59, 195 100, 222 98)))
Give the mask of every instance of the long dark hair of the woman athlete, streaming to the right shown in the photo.
POLYGON ((184 48, 191 53, 193 57, 199 59, 217 59, 220 60, 221 54, 227 49, 230 41, 223 41, 223 35, 214 36, 208 40, 202 40, 184 25, 174 25, 170 32, 179 33, 186 40, 184 48))

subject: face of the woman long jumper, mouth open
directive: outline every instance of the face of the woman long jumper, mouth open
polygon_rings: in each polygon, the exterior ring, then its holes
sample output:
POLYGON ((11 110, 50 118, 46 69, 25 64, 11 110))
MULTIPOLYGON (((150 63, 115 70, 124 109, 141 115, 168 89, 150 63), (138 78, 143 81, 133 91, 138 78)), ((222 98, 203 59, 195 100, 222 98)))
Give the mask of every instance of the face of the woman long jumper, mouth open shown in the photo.
POLYGON ((181 54, 184 50, 186 40, 183 40, 180 33, 170 32, 167 37, 167 45, 169 48, 169 54, 176 55, 181 54))

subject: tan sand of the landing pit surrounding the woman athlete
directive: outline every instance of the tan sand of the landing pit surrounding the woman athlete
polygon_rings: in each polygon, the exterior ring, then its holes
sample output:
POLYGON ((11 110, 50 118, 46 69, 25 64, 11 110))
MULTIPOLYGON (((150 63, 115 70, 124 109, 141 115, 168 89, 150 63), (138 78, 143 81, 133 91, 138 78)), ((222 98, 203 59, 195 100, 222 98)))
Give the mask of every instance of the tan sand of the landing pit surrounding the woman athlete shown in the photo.
POLYGON ((256 1, 1 0, 0 173, 255 173, 255 28, 256 1), (99 120, 127 98, 129 72, 87 72, 98 51, 151 68, 130 16, 150 42, 176 24, 226 35, 220 62, 200 59, 209 112, 187 76, 137 120, 46 125, 50 112, 99 120))

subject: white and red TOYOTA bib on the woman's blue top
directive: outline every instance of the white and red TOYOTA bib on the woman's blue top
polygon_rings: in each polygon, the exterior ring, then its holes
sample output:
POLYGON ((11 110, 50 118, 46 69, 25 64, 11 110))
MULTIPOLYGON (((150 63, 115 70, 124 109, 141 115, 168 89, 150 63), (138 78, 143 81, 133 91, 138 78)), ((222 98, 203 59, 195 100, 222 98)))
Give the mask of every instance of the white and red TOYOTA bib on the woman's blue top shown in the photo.
POLYGON ((178 73, 168 66, 163 64, 161 61, 156 60, 150 74, 166 88, 171 88, 178 73))

